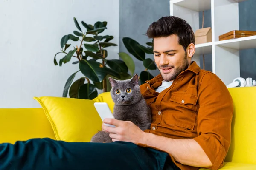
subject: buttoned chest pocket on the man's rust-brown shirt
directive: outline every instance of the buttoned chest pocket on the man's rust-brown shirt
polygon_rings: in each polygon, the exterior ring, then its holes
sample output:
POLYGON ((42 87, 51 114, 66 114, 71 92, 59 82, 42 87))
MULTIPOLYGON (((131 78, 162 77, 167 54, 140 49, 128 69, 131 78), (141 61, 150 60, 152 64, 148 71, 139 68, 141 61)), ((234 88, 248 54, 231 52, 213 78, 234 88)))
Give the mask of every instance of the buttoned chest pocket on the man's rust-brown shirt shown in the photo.
POLYGON ((198 97, 192 94, 173 93, 169 107, 163 116, 168 125, 176 125, 193 130, 196 122, 198 97))

